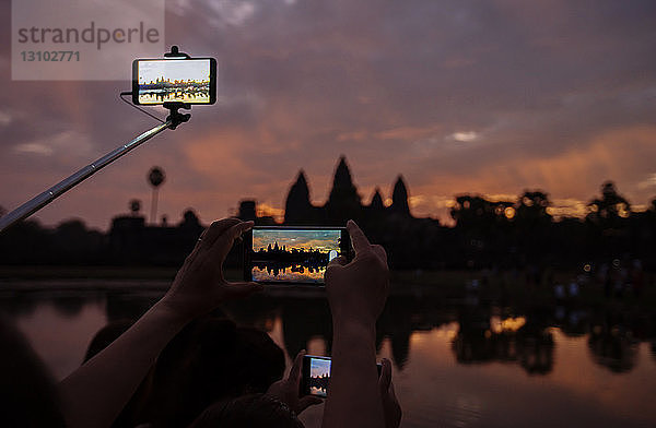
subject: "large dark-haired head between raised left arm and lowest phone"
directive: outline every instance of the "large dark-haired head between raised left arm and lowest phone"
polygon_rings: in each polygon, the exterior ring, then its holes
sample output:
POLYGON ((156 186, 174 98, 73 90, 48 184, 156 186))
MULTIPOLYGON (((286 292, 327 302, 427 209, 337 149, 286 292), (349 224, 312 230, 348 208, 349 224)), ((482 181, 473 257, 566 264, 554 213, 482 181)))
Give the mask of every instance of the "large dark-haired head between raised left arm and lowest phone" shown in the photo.
POLYGON ((153 427, 185 427, 219 400, 266 392, 284 367, 267 333, 218 317, 198 319, 157 359, 153 427))

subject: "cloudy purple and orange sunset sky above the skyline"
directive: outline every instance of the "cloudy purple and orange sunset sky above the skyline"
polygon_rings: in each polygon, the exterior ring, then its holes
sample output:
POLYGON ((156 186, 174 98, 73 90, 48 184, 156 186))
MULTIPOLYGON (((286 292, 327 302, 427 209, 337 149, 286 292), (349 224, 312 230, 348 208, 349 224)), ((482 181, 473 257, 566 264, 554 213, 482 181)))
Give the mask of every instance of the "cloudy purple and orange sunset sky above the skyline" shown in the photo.
MULTIPOLYGON (((11 80, 0 48, 0 205, 13 209, 154 123, 120 103, 129 82, 11 80)), ((327 199, 340 154, 363 200, 444 217, 459 193, 542 189, 582 212, 604 180, 656 197, 656 2, 270 0, 166 2, 166 45, 219 63, 219 102, 37 214, 107 228, 128 201, 203 222, 254 198, 280 214, 300 168, 327 199)), ((126 63, 127 76, 130 64, 126 63)))

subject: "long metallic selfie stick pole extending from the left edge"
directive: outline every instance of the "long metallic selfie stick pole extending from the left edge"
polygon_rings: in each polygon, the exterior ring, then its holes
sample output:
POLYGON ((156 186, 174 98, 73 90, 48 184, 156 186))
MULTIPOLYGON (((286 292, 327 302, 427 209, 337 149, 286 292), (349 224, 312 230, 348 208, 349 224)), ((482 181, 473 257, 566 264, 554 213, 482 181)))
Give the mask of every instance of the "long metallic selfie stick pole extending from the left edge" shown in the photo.
POLYGON ((43 209, 50 202, 55 200, 55 198, 66 193, 73 187, 78 186, 80 182, 85 180, 86 178, 93 176, 95 173, 112 164, 114 160, 118 159, 122 155, 127 154, 131 150, 139 147, 142 143, 152 139, 160 132, 165 129, 175 129, 180 122, 189 120, 188 114, 183 115, 177 112, 177 109, 169 117, 166 118, 166 122, 156 126, 155 128, 145 131, 141 135, 137 136, 134 140, 130 141, 127 144, 124 144, 112 152, 107 153, 105 156, 101 157, 96 162, 89 164, 84 168, 80 169, 75 174, 70 177, 59 181, 57 185, 52 186, 50 189, 45 192, 38 194, 37 197, 31 199, 25 202, 23 205, 19 206, 11 213, 7 214, 4 217, 0 218, 0 231, 4 230, 9 226, 13 225, 16 222, 22 221, 25 217, 36 213, 38 210, 43 209))

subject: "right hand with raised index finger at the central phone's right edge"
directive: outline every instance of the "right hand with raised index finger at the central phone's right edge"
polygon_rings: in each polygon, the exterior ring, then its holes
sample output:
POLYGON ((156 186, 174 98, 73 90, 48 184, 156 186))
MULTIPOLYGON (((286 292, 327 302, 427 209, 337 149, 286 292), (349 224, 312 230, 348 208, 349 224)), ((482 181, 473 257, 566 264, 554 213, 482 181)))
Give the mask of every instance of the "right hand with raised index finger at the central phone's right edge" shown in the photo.
POLYGON ((355 222, 349 221, 355 258, 347 264, 343 257, 332 259, 326 269, 326 292, 336 323, 375 325, 389 290, 387 253, 371 245, 355 222))

